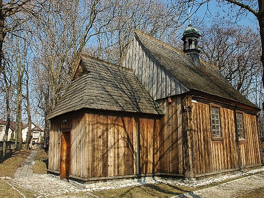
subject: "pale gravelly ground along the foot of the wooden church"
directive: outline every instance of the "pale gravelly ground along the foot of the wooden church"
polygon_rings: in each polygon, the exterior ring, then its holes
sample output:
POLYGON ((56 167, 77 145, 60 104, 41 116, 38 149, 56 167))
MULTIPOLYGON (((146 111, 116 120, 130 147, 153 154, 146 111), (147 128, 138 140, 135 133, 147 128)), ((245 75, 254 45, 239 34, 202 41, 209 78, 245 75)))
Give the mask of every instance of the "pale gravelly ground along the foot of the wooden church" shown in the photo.
MULTIPOLYGON (((103 182, 89 185, 82 185, 74 182, 67 182, 60 180, 52 175, 39 175, 33 174, 32 177, 25 178, 2 178, 4 181, 13 186, 17 191, 19 188, 31 191, 35 197, 78 197, 67 196, 67 194, 84 193, 85 197, 98 197, 91 194, 92 190, 103 190, 113 188, 123 188, 131 186, 139 186, 151 183, 167 183, 171 185, 184 185, 191 187, 205 186, 211 183, 221 182, 227 179, 233 179, 244 176, 241 179, 234 180, 232 182, 223 183, 217 186, 208 187, 202 190, 189 192, 186 194, 174 196, 174 197, 236 197, 237 195, 250 191, 255 188, 264 186, 264 173, 258 173, 264 171, 264 167, 260 169, 251 170, 248 172, 229 173, 225 175, 210 177, 198 181, 192 181, 192 183, 181 179, 163 179, 159 177, 154 178, 142 178, 134 180, 122 180, 116 182, 103 182), (251 175, 254 174, 254 175, 251 175), (64 194, 64 195, 63 195, 64 194)), ((19 191, 20 192, 20 191, 19 191)), ((22 192, 21 196, 25 197, 22 192)))

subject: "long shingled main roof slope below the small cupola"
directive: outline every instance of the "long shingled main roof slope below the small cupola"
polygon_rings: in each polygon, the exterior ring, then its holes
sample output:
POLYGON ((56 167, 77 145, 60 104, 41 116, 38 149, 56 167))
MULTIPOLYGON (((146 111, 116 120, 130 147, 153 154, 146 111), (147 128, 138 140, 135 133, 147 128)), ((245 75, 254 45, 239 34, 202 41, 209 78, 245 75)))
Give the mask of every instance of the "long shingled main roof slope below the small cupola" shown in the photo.
POLYGON ((230 85, 214 65, 200 61, 201 67, 195 67, 186 53, 138 30, 135 31, 135 37, 144 49, 159 62, 161 67, 165 68, 188 89, 257 108, 230 85))

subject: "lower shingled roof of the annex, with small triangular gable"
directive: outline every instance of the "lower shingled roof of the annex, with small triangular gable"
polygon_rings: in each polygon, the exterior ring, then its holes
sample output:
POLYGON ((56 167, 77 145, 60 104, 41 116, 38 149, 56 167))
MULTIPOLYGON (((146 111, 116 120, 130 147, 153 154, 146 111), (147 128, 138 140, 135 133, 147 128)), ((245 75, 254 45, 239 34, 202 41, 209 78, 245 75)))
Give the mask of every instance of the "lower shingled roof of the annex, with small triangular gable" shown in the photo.
POLYGON ((72 84, 48 119, 84 108, 164 114, 133 72, 86 56, 81 57, 72 84))

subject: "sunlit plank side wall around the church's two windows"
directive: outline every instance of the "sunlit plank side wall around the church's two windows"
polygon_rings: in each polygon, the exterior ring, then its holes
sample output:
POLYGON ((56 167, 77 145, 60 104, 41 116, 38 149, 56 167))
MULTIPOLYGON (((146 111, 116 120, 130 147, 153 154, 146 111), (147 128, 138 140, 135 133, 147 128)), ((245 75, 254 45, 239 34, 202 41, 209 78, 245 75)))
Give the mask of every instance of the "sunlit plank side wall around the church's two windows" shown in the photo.
POLYGON ((235 111, 221 108, 222 140, 212 140, 209 104, 192 103, 192 147, 195 175, 241 169, 260 164, 257 124, 244 113, 245 142, 239 142, 235 111))

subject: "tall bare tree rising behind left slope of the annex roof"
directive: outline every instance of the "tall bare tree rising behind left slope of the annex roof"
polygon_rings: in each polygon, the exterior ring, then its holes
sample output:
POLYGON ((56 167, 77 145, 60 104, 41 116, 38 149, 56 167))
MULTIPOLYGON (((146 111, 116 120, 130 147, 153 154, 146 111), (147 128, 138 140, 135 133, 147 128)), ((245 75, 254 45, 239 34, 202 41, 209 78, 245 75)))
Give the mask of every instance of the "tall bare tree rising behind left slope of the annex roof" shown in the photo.
MULTIPOLYGON (((72 69, 90 41, 99 34, 94 24, 107 25, 111 16, 102 22, 101 13, 110 9, 110 1, 49 1, 50 9, 39 13, 41 18, 35 35, 35 86, 39 107, 45 115, 45 136, 48 137, 47 116, 67 88, 72 69)), ((100 27, 98 28, 100 30, 100 27)))

